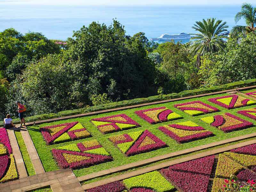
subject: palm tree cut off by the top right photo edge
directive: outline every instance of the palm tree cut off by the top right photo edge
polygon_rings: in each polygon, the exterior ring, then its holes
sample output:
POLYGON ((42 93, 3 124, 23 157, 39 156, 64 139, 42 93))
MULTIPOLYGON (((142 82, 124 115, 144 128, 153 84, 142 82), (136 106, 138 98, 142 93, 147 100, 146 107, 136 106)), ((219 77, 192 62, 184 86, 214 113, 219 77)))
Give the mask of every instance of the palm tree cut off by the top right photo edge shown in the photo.
POLYGON ((235 16, 236 23, 244 18, 247 26, 237 25, 232 28, 230 36, 237 37, 239 34, 248 34, 256 31, 256 7, 252 4, 244 3, 241 6, 241 11, 235 16))

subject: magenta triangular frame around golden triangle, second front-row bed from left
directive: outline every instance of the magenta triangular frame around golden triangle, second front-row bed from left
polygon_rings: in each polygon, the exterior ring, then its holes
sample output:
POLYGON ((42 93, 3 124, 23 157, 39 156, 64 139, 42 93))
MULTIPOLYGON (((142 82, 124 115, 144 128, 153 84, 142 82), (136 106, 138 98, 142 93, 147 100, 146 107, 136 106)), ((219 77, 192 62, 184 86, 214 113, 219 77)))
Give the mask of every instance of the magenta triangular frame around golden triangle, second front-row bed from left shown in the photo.
POLYGON ((126 155, 130 156, 130 155, 135 155, 135 154, 139 154, 139 153, 144 153, 144 152, 148 152, 157 148, 162 148, 162 147, 167 147, 167 144, 160 140, 158 137, 156 137, 155 135, 153 135, 151 132, 149 132, 148 130, 145 130, 142 135, 140 136, 140 138, 132 145, 132 147, 126 152, 126 155), (149 137, 150 139, 152 139, 153 141, 155 141, 155 143, 153 144, 148 144, 145 145, 143 147, 139 147, 140 144, 142 143, 142 141, 146 138, 149 137))

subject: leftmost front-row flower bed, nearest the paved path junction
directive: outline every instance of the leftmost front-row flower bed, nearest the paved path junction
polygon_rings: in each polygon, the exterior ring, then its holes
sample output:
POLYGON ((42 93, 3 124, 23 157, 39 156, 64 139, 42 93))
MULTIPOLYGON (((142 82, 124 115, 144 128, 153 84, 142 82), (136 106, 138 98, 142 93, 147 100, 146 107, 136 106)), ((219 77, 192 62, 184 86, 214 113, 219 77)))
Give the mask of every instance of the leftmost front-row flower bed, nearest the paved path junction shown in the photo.
POLYGON ((113 160, 97 140, 52 149, 52 154, 63 169, 77 169, 113 160))

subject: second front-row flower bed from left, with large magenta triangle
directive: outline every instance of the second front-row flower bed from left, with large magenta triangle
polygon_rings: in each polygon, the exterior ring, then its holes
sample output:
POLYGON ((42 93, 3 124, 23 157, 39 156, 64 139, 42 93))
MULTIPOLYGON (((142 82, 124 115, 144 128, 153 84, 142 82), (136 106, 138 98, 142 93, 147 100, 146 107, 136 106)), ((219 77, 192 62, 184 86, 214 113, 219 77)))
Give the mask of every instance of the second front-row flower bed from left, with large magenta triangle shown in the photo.
POLYGON ((148 130, 115 135, 108 139, 127 156, 167 147, 165 142, 148 130))

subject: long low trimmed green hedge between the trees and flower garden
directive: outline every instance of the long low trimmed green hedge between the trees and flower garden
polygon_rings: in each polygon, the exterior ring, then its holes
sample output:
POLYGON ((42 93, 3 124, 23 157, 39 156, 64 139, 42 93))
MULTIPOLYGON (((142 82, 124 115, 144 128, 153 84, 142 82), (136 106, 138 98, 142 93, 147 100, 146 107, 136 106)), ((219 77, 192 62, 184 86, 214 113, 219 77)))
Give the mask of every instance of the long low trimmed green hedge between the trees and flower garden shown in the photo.
MULTIPOLYGON (((224 91, 224 90, 228 90, 228 89, 234 89, 236 87, 247 87, 247 86, 252 86, 252 85, 256 85, 256 79, 248 79, 248 80, 244 80, 244 81, 238 81, 238 82, 234 82, 234 83, 224 84, 224 85, 220 85, 220 86, 213 86, 213 87, 208 87, 208 88, 186 90, 186 91, 182 91, 179 93, 171 93, 171 94, 166 94, 166 95, 154 95, 154 96, 150 96, 147 98, 123 100, 123 101, 112 102, 112 103, 103 104, 103 105, 96 105, 96 106, 91 106, 91 107, 86 107, 86 108, 60 111, 58 113, 49 113, 49 114, 30 116, 30 117, 26 117, 26 121, 34 122, 34 121, 39 121, 39 120, 44 120, 44 119, 77 115, 77 114, 88 113, 88 112, 92 112, 92 111, 100 111, 100 110, 105 110, 105 109, 119 108, 119 107, 137 105, 137 104, 142 104, 142 103, 149 103, 149 102, 154 102, 154 101, 175 99, 175 98, 199 95, 199 94, 210 93, 210 92, 224 91)), ((18 123, 20 123, 20 120, 13 119, 13 123, 18 124, 18 123)), ((3 126, 2 121, 0 122, 0 126, 3 126)))

